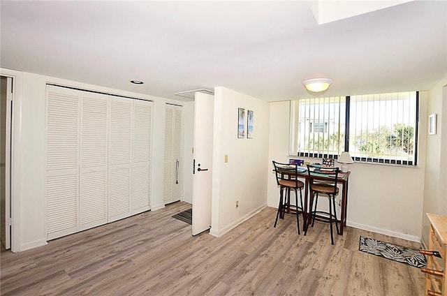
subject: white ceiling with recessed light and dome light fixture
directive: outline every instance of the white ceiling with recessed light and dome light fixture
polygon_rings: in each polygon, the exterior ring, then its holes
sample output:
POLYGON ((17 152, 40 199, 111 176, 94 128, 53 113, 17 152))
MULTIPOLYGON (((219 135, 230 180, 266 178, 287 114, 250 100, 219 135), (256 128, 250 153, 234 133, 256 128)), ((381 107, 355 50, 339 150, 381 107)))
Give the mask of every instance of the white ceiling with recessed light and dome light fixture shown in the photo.
POLYGON ((447 75, 447 1, 320 25, 307 1, 1 0, 0 10, 2 68, 164 98, 223 86, 288 100, 310 96, 301 83, 315 77, 334 80, 326 96, 425 90, 447 75))

